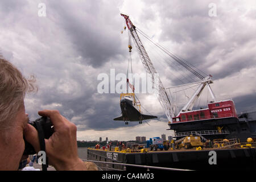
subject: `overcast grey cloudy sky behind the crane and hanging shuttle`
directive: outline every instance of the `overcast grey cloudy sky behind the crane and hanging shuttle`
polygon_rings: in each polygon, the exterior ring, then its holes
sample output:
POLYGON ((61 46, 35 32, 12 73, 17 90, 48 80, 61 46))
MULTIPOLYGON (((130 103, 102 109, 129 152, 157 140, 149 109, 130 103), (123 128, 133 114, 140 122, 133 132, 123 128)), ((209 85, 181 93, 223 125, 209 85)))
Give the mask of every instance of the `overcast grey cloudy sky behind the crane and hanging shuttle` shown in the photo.
MULTIPOLYGON (((38 110, 57 109, 76 124, 79 140, 130 140, 171 134, 154 95, 138 97, 159 119, 148 121, 150 126, 127 126, 113 121, 121 112, 119 94, 97 90, 101 73, 110 76, 110 69, 115 69, 115 74, 127 72, 128 34, 120 13, 129 15, 154 42, 211 74, 217 98, 232 98, 238 112, 256 108, 253 0, 2 0, 0 52, 24 76, 35 75, 39 86, 39 91, 28 94, 25 100, 31 119, 39 117, 38 110)), ((146 39, 142 41, 164 86, 183 80, 182 69, 173 71, 179 68, 176 63, 166 57, 160 59, 160 52, 154 52, 146 39)), ((133 47, 133 72, 145 73, 133 47)))

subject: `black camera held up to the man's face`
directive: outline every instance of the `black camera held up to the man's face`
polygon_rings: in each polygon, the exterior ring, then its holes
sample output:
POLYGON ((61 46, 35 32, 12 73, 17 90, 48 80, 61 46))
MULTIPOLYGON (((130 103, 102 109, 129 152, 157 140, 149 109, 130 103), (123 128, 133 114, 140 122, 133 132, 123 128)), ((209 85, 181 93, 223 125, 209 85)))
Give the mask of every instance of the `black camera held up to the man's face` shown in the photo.
MULTIPOLYGON (((44 139, 48 139, 54 133, 54 128, 53 128, 51 119, 48 117, 41 117, 36 119, 35 121, 30 121, 28 123, 34 126, 35 129, 38 131, 40 147, 42 149, 42 143, 44 144, 44 139)), ((24 138, 24 141, 25 141, 25 150, 23 152, 23 155, 36 154, 34 147, 30 143, 28 143, 25 138, 24 138)))

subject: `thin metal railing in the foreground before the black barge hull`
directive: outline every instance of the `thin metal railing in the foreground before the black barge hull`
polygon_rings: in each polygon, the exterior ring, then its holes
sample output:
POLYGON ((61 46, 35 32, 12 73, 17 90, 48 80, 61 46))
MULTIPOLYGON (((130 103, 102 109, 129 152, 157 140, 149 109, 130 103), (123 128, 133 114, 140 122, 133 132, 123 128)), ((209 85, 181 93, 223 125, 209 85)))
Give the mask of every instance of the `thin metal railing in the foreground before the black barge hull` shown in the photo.
POLYGON ((126 171, 126 166, 129 166, 129 167, 139 167, 139 168, 147 168, 147 171, 150 171, 150 169, 158 169, 158 170, 165 170, 165 171, 193 171, 193 170, 190 170, 190 169, 179 169, 179 168, 169 168, 169 167, 156 167, 156 166, 143 166, 143 165, 137 165, 137 164, 104 162, 104 161, 87 160, 87 159, 83 159, 82 161, 96 163, 96 166, 101 171, 108 171, 108 170, 109 171, 113 171, 113 170, 114 171, 126 171), (97 163, 106 164, 106 167, 98 166, 97 163), (123 166, 123 169, 115 169, 115 168, 109 167, 109 164, 121 165, 121 166, 123 166))

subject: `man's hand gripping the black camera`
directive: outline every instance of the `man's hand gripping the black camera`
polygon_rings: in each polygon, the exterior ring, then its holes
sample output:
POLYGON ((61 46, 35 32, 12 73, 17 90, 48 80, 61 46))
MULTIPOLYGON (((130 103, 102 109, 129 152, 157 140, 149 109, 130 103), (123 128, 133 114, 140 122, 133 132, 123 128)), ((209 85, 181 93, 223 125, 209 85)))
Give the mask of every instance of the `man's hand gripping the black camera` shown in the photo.
MULTIPOLYGON (((57 170, 86 170, 85 164, 77 155, 76 125, 57 110, 42 110, 38 114, 49 117, 55 130, 49 139, 45 139, 49 164, 57 170)), ((27 125, 25 137, 38 152, 38 132, 33 126, 27 125)))

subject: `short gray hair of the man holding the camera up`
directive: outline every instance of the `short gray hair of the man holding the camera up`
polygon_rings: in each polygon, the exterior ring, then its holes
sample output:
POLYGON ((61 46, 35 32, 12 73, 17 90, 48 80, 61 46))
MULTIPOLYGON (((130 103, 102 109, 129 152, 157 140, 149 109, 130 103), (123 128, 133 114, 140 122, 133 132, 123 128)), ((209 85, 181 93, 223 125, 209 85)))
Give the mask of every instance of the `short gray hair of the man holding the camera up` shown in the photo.
POLYGON ((24 78, 13 64, 0 55, 0 129, 16 117, 26 92, 35 90, 34 83, 34 77, 24 78))

